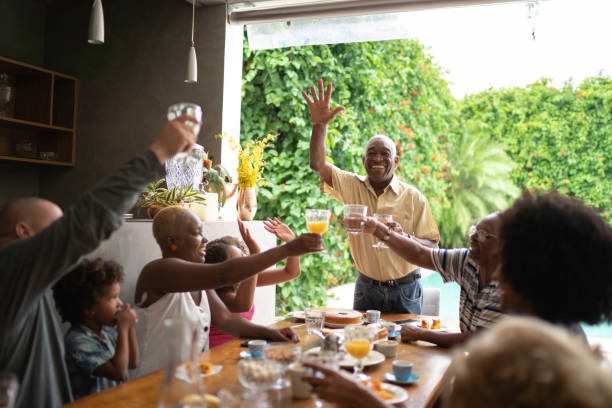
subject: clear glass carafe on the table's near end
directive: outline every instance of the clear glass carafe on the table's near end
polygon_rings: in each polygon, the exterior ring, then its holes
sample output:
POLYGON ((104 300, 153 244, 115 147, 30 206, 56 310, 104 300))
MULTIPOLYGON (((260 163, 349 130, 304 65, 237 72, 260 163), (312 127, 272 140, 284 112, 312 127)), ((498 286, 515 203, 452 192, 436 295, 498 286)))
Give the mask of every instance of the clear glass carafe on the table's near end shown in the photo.
POLYGON ((204 382, 198 364, 198 328, 186 321, 166 319, 168 368, 161 382, 158 408, 206 408, 204 382))

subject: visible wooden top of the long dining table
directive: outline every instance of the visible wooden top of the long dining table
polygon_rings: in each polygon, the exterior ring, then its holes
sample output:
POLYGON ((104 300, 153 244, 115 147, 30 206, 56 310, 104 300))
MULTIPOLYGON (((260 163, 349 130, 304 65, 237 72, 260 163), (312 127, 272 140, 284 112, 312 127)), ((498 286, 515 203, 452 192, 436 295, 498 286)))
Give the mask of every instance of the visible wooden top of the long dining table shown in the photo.
MULTIPOLYGON (((418 316, 410 314, 383 314, 382 318, 387 321, 403 319, 431 319, 432 316, 418 316)), ((457 319, 441 318, 443 326, 450 331, 458 330, 457 319)), ((292 318, 280 320, 272 325, 275 328, 294 327, 295 331, 304 338, 305 327, 300 321, 292 318)), ((223 368, 216 375, 206 376, 204 385, 207 394, 217 392, 234 384, 238 384, 238 361, 240 352, 246 350, 240 346, 245 339, 237 339, 212 348, 200 354, 200 362, 209 362, 214 365, 222 365, 223 368)), ((387 358, 382 363, 366 367, 365 374, 383 381, 383 375, 392 371, 391 363, 394 359, 411 361, 414 364, 413 372, 419 376, 419 380, 413 385, 403 387, 408 393, 408 399, 396 404, 398 407, 432 407, 440 395, 444 374, 450 364, 451 356, 448 349, 437 347, 430 343, 417 342, 400 343, 397 356, 387 358)), ((164 370, 158 370, 151 374, 127 381, 117 387, 79 399, 66 407, 125 407, 125 408, 154 408, 157 405, 157 397, 164 370)), ((315 406, 314 394, 305 400, 292 399, 290 407, 310 408, 315 406)))

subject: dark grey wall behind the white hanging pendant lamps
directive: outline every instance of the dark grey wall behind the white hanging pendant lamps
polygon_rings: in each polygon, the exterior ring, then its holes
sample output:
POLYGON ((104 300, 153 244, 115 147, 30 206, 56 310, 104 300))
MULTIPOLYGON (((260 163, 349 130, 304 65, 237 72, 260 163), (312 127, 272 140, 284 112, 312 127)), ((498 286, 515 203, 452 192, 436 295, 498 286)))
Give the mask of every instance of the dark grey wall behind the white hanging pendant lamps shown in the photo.
POLYGON ((199 82, 185 84, 190 3, 105 0, 103 6, 103 45, 87 43, 91 2, 57 0, 47 7, 45 66, 80 81, 76 167, 40 174, 40 195, 63 207, 146 149, 173 103, 202 106, 199 143, 209 151, 221 132, 225 7, 196 8, 199 82))

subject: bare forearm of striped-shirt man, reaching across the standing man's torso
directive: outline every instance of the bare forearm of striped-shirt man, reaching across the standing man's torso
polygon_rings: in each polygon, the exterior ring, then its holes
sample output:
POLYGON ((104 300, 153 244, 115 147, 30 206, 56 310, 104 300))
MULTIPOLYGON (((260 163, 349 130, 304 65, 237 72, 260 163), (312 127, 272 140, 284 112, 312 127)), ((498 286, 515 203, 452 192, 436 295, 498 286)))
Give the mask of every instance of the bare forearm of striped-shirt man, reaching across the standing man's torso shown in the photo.
POLYGON ((411 264, 435 270, 431 260, 431 249, 409 235, 394 231, 374 217, 368 217, 364 232, 373 234, 376 238, 384 241, 393 252, 411 264))

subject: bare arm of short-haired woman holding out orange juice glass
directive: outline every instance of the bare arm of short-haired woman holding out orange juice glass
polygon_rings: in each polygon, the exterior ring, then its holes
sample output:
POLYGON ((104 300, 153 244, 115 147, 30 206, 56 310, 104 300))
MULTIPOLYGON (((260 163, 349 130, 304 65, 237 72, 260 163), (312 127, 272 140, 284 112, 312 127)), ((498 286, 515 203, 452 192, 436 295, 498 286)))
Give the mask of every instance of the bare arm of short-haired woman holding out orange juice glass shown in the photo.
POLYGON ((321 236, 309 233, 260 254, 215 264, 190 262, 179 258, 158 259, 147 264, 138 277, 136 301, 144 305, 150 304, 150 301, 143 299, 143 294, 149 291, 161 296, 165 293, 229 286, 261 272, 288 256, 321 252, 321 248, 321 236))

